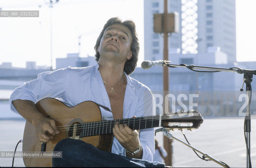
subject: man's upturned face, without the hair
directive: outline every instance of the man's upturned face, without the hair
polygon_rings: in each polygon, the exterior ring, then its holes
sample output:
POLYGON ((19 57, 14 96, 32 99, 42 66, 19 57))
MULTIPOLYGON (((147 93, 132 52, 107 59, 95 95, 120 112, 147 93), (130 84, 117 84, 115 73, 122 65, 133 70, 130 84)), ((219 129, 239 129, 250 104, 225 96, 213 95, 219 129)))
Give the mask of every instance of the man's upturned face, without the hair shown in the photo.
POLYGON ((110 25, 100 40, 98 51, 101 57, 126 60, 132 57, 132 35, 128 27, 121 24, 110 25))

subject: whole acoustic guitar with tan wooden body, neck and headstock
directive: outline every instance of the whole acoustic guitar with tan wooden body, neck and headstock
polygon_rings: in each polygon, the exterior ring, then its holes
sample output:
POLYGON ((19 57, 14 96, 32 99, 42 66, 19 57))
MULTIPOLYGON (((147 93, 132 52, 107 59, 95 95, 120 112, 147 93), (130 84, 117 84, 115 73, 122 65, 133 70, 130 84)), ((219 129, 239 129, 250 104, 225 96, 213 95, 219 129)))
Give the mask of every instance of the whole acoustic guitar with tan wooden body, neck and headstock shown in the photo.
MULTIPOLYGON (((46 143, 45 151, 53 151, 54 146, 65 138, 79 139, 90 143, 100 150, 109 151, 112 145, 112 129, 116 121, 126 123, 132 130, 155 127, 170 129, 195 129, 200 127, 203 118, 197 111, 189 111, 185 117, 175 113, 159 116, 147 116, 118 120, 103 120, 99 106, 92 101, 84 101, 77 106, 68 107, 63 102, 45 98, 36 103, 37 109, 47 117, 55 120, 60 131, 58 135, 46 143)), ((42 144, 36 135, 34 125, 26 121, 23 135, 23 152, 40 152, 42 144)), ((52 158, 23 157, 26 166, 52 166, 52 158)))

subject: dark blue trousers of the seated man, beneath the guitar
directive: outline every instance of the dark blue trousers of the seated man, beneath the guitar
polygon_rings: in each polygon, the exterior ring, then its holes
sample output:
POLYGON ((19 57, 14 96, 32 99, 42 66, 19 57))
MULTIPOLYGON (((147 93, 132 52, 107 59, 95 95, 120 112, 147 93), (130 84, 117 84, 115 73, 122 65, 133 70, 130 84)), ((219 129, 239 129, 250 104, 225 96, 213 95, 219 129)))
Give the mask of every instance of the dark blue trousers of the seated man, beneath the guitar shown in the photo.
POLYGON ((54 151, 62 151, 62 158, 53 158, 53 166, 60 167, 165 167, 164 163, 132 159, 95 148, 74 139, 63 139, 54 151))

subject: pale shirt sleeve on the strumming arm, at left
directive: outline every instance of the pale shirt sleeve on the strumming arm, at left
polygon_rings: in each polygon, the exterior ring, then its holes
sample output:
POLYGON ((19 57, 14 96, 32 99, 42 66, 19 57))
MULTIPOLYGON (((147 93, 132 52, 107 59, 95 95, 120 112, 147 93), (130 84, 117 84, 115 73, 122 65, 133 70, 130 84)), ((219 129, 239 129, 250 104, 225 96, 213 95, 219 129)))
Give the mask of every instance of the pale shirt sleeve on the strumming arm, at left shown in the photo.
POLYGON ((42 72, 37 79, 25 82, 13 91, 9 101, 11 110, 17 113, 12 104, 12 101, 17 99, 36 103, 43 98, 62 98, 68 86, 68 79, 69 68, 42 72))

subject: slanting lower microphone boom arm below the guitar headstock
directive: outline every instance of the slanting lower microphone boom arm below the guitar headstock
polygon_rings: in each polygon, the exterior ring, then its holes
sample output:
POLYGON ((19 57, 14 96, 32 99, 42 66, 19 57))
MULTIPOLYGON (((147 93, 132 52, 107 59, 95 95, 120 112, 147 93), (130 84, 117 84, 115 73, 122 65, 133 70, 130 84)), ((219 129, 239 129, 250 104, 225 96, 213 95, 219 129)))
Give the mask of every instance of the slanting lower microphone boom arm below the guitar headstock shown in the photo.
POLYGON ((200 150, 194 148, 193 146, 191 146, 191 145, 189 145, 189 144, 183 142, 182 140, 179 140, 178 138, 174 137, 173 134, 170 133, 166 128, 163 128, 163 127, 162 127, 162 128, 159 128, 159 129, 155 130, 155 132, 160 132, 160 131, 162 131, 163 134, 164 134, 166 137, 168 137, 169 139, 173 138, 173 139, 175 139, 175 140, 181 142, 182 144, 188 146, 189 148, 193 149, 194 151, 196 151, 196 152, 198 152, 198 153, 201 153, 204 158, 208 158, 208 159, 214 161, 215 163, 220 164, 220 165, 223 166, 223 167, 229 167, 228 165, 223 164, 222 162, 216 160, 215 158, 213 158, 212 156, 208 155, 207 153, 204 153, 204 152, 202 152, 202 151, 200 151, 200 150))

